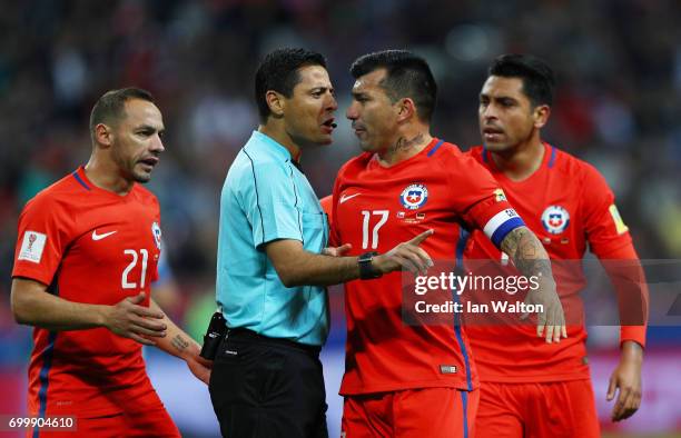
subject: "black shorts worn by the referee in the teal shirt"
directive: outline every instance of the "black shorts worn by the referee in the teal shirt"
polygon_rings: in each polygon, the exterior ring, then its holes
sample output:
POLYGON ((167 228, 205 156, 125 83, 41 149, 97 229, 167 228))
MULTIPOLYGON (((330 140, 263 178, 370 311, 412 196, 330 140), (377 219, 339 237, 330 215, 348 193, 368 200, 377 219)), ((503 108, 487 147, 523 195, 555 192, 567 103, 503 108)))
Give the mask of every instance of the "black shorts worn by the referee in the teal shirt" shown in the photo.
POLYGON ((208 388, 223 437, 328 437, 318 347, 229 330, 208 388))

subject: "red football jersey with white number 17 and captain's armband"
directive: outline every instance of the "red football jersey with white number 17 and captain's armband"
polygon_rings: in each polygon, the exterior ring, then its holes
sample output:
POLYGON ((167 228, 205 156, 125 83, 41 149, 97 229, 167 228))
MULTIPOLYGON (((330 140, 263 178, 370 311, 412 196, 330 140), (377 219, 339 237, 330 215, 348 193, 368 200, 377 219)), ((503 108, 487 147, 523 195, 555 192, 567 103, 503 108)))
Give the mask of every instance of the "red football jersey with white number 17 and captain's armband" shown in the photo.
MULTIPOLYGON (((416 156, 389 168, 363 153, 339 171, 333 193, 336 243, 351 255, 386 252, 434 229, 422 245, 433 260, 455 259, 461 226, 485 229, 501 241, 522 225, 499 185, 458 148, 434 139, 416 156)), ((463 251, 463 248, 461 248, 463 251)), ((345 283, 347 345, 342 395, 409 388, 472 390, 477 376, 466 335, 453 313, 447 323, 407 325, 402 319, 402 273, 345 283)))

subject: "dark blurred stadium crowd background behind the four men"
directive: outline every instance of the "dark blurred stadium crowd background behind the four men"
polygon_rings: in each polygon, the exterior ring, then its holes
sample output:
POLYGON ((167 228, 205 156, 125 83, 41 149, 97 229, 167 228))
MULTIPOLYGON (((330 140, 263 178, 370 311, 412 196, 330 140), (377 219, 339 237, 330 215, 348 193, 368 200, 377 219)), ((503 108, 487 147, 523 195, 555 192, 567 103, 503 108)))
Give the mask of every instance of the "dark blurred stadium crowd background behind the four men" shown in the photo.
MULTIPOLYGON (((681 258, 681 3, 675 0, 156 0, 2 1, 0 13, 0 414, 24 412, 30 330, 14 323, 10 272, 17 218, 38 190, 85 163, 88 115, 107 89, 151 90, 165 116, 166 152, 150 188, 162 207, 170 269, 159 297, 195 337, 214 310, 219 192, 257 125, 253 73, 269 50, 324 53, 339 127, 303 166, 319 197, 357 153, 344 119, 359 54, 408 48, 440 84, 434 133, 478 142, 477 92, 487 62, 532 52, 559 74, 544 138, 595 165, 619 197, 645 259, 681 258)), ((678 266, 678 265, 677 265, 678 266)), ((677 277, 678 278, 678 277, 677 277)), ((97 292, 97 285, 92 285, 97 292)), ((324 351, 329 429, 338 436, 343 297, 324 351)), ((600 309, 590 308, 598 312, 600 309)), ((616 328, 591 330, 591 364, 609 436, 681 436, 681 330, 652 327, 640 411, 621 425, 605 400, 616 328)), ((178 360, 147 351, 155 385, 187 437, 217 435, 208 391, 178 360)), ((556 407, 557 408, 557 407, 556 407)))

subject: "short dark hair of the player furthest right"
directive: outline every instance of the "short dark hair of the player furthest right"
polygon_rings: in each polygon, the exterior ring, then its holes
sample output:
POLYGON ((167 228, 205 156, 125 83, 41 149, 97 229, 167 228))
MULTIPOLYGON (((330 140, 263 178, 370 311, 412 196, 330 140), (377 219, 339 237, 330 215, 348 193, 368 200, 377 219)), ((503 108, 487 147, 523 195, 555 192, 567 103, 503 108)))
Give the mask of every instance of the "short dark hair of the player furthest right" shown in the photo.
POLYGON ((523 81, 523 92, 532 106, 553 104, 555 74, 551 67, 540 58, 532 54, 502 54, 492 62, 487 74, 520 78, 523 81))

